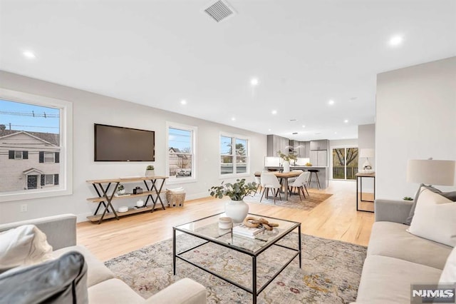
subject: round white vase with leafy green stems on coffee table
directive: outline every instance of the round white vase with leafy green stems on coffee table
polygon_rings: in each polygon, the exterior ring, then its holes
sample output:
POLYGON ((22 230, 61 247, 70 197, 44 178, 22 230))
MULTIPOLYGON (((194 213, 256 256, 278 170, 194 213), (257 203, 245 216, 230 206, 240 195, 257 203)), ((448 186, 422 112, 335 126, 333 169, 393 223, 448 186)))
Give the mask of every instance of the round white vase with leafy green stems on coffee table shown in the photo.
POLYGON ((233 219, 233 223, 242 223, 249 213, 249 205, 245 203, 244 197, 249 196, 257 190, 257 183, 246 183, 245 178, 237 179, 236 183, 222 182, 220 186, 212 186, 209 194, 214 198, 223 198, 228 196, 231 201, 225 203, 225 213, 233 219))

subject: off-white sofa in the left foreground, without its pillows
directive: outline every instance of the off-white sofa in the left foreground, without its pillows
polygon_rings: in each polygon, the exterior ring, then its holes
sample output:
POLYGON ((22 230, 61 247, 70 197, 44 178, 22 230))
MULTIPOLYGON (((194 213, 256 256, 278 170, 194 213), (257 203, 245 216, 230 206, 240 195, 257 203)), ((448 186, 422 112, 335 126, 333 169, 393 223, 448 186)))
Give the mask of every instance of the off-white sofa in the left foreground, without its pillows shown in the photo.
POLYGON ((88 266, 89 303, 206 303, 206 288, 190 278, 177 281, 147 300, 142 298, 122 280, 115 278, 114 273, 87 248, 76 245, 76 216, 73 214, 2 224, 0 232, 27 224, 35 225, 46 234, 48 243, 53 246, 54 256, 74 250, 83 254, 88 266))

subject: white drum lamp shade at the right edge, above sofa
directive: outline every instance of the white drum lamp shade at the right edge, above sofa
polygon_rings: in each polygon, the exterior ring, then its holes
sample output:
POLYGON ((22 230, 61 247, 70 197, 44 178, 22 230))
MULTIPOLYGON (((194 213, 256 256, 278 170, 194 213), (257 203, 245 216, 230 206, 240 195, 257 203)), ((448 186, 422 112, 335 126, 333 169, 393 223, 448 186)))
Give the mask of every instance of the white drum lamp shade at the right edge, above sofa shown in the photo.
POLYGON ((455 161, 410 159, 407 165, 407 181, 437 186, 455 184, 455 161))

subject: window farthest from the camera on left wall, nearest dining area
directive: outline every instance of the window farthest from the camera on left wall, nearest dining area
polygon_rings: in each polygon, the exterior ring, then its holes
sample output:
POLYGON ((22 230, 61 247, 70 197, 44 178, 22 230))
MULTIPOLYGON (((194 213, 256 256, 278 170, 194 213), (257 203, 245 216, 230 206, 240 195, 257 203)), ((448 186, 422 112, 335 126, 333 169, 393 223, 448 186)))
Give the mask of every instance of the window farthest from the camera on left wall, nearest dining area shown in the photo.
POLYGON ((220 136, 220 175, 249 172, 248 143, 246 138, 220 136))

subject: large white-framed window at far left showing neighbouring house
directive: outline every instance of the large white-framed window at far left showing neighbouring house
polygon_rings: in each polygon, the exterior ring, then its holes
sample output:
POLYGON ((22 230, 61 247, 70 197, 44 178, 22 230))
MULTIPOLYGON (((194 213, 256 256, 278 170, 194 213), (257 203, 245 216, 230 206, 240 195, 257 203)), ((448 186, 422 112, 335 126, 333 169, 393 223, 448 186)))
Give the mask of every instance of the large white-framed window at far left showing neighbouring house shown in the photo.
POLYGON ((0 88, 0 202, 72 193, 72 111, 68 101, 0 88))

